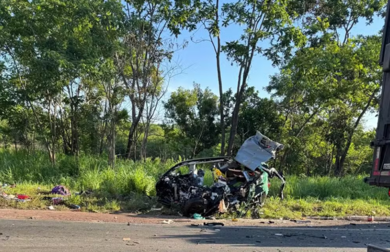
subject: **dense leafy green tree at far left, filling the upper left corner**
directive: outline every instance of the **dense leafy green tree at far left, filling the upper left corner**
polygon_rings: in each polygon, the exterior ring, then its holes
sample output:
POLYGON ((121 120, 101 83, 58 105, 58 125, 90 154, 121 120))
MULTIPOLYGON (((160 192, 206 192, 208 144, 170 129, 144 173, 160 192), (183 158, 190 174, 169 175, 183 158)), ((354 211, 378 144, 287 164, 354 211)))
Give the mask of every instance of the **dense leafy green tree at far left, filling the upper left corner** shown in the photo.
MULTIPOLYGON (((66 144, 77 154, 81 78, 103 57, 98 49, 108 41, 99 35, 107 23, 114 24, 112 30, 117 28, 120 2, 7 0, 0 4, 0 11, 0 53, 7 62, 11 90, 20 106, 34 115, 35 128, 55 164, 58 122, 64 119, 60 114, 66 116, 63 90, 67 90, 65 103, 70 105, 71 117, 66 144)), ((65 127, 63 121, 60 124, 65 127)))

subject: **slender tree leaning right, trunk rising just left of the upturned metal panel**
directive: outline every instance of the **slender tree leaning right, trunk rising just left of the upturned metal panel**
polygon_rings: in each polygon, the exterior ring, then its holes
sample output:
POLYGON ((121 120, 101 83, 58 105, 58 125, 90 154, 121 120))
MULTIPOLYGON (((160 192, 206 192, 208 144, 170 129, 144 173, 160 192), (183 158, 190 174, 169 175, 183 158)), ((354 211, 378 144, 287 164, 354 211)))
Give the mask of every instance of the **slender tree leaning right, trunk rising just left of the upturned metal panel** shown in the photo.
POLYGON ((222 46, 222 51, 239 67, 228 155, 232 155, 239 110, 247 88, 253 57, 260 54, 272 60, 274 65, 278 65, 281 60, 279 54, 291 56, 292 44, 298 47, 304 44, 305 37, 300 29, 293 25, 293 18, 297 13, 287 12, 288 4, 289 1, 240 0, 222 6, 222 12, 225 14, 223 26, 227 27, 233 23, 244 27, 239 40, 230 41, 222 46), (260 41, 265 40, 270 41, 268 48, 258 45, 260 41))

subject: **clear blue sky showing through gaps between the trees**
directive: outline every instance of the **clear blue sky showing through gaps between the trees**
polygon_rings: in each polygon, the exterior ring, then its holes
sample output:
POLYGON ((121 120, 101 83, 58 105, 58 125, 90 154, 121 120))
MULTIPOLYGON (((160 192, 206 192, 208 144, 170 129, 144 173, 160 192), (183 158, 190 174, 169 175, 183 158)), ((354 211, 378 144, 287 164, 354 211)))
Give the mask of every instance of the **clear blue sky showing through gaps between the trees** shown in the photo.
MULTIPOLYGON (((352 30, 353 35, 373 35, 378 34, 382 28, 384 20, 379 17, 374 18, 374 22, 370 26, 366 26, 365 20, 361 20, 352 30)), ((241 34, 241 28, 230 27, 221 31, 222 45, 224 41, 237 39, 241 34)), ((184 39, 190 40, 192 33, 184 32, 178 37, 178 43, 184 39)), ((194 34, 194 39, 208 38, 208 34, 203 30, 199 30, 194 34)), ((214 49, 210 42, 193 43, 191 40, 188 46, 183 50, 176 52, 175 60, 179 62, 184 69, 183 73, 175 76, 169 84, 169 93, 177 90, 178 87, 192 88, 193 82, 199 83, 202 88, 210 88, 215 94, 218 91, 218 78, 215 62, 214 49)), ((379 59, 378 59, 379 60, 379 59)), ((250 72, 248 85, 254 86, 260 93, 261 97, 269 97, 263 88, 268 85, 270 75, 278 72, 277 68, 272 67, 269 60, 264 57, 256 56, 253 59, 252 69, 250 72)), ((232 88, 233 91, 237 88, 238 67, 231 65, 224 55, 221 55, 221 73, 223 90, 232 88)), ((366 115, 365 128, 376 127, 377 118, 375 114, 366 115)))

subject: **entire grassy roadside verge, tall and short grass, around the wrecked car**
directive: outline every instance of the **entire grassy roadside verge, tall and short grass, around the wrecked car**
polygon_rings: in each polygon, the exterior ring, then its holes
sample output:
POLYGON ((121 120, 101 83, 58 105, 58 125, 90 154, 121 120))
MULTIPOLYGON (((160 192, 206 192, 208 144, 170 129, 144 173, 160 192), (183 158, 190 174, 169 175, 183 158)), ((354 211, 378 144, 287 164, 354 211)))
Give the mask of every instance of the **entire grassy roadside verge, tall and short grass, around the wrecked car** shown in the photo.
MULTIPOLYGON (((51 204, 42 198, 56 184, 67 186, 71 192, 92 190, 88 197, 72 195, 66 203, 81 206, 82 211, 113 212, 118 210, 147 213, 156 205, 155 182, 175 161, 159 160, 132 162, 118 160, 115 169, 103 158, 60 156, 52 167, 44 154, 27 156, 0 152, 0 182, 16 188, 4 188, 8 194, 27 194, 33 200, 19 203, 0 198, 0 207, 19 209, 47 208, 51 204), (147 197, 149 195, 151 197, 147 197)), ((350 215, 390 216, 390 200, 385 188, 370 187, 363 176, 342 179, 329 177, 286 178, 285 200, 276 196, 278 181, 271 181, 271 197, 261 210, 264 218, 301 218, 303 216, 342 217, 350 215)), ((212 183, 207 172, 205 182, 212 183)), ((56 209, 68 209, 56 206, 56 209)), ((168 212, 171 212, 167 209, 168 212)))

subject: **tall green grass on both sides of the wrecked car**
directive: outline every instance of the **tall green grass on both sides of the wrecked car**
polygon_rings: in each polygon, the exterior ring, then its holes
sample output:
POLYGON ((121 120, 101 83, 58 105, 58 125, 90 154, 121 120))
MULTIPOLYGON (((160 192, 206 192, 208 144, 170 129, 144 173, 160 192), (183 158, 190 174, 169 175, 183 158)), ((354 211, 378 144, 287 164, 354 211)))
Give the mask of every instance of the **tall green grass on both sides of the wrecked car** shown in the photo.
MULTIPOLYGON (((60 155, 52 166, 45 153, 26 155, 0 151, 1 183, 38 183, 51 186, 64 184, 71 190, 93 190, 104 197, 124 197, 132 193, 155 195, 155 183, 159 176, 176 162, 147 159, 145 162, 117 160, 111 169, 104 158, 82 155, 78 158, 60 155)), ((203 168, 204 169, 204 168, 203 168)), ((370 187, 364 176, 286 178, 285 195, 291 199, 314 198, 317 200, 362 199, 388 200, 386 190, 370 187)), ((205 184, 212 184, 212 173, 206 170, 205 184)), ((271 196, 277 196, 277 179, 271 181, 271 196)))

